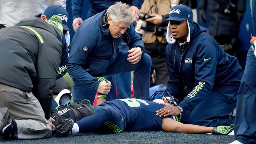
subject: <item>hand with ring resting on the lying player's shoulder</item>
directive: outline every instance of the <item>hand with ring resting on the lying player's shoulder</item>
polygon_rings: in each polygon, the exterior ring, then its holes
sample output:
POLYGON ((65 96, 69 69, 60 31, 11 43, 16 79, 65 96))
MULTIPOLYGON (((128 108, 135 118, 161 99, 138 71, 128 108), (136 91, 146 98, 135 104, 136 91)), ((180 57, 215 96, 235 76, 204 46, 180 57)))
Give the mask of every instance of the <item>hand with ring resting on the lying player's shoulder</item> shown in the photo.
POLYGON ((156 111, 156 115, 160 116, 160 117, 162 117, 162 116, 166 117, 166 116, 171 116, 171 115, 176 116, 180 113, 181 113, 180 109, 178 109, 178 107, 176 107, 174 105, 167 105, 164 108, 156 111))

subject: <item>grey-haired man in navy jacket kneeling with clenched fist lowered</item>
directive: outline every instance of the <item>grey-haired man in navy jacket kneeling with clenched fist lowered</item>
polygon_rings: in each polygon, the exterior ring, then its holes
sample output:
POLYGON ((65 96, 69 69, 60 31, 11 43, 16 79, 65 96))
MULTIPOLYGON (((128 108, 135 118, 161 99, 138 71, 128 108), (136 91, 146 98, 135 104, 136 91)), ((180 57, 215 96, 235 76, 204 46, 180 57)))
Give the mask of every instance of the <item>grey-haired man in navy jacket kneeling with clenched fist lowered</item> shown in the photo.
POLYGON ((95 77, 113 76, 134 70, 134 97, 149 97, 151 59, 144 54, 141 37, 131 26, 135 20, 128 5, 121 2, 85 20, 74 35, 69 55, 69 74, 74 83, 74 101, 91 102, 97 91, 108 94, 111 83, 95 77), (125 37, 126 42, 122 39, 125 37), (118 45, 128 44, 129 51, 118 45), (78 97, 79 96, 79 97, 78 97))

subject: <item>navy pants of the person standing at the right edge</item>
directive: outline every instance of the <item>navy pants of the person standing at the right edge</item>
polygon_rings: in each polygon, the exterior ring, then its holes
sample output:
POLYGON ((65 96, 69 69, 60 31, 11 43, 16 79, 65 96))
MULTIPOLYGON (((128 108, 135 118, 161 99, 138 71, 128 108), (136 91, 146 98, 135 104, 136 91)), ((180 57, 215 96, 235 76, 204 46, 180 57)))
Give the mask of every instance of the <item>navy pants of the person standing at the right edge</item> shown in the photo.
POLYGON ((235 138, 244 144, 256 144, 256 57, 250 48, 245 72, 237 95, 235 138))

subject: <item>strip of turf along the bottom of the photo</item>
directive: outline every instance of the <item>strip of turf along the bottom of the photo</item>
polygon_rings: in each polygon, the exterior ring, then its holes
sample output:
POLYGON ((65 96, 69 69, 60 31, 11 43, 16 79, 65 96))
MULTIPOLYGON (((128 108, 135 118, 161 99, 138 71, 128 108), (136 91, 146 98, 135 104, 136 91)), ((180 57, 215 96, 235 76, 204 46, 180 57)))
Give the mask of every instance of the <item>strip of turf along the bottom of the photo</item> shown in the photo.
POLYGON ((228 144, 234 136, 157 132, 82 133, 69 137, 2 141, 1 144, 228 144))

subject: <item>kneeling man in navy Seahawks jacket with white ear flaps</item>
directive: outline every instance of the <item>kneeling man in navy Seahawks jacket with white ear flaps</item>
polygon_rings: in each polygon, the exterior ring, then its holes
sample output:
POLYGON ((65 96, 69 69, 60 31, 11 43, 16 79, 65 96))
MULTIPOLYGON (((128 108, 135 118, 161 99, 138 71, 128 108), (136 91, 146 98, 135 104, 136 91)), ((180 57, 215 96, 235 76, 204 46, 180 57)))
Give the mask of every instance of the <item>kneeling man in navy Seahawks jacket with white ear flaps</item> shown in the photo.
POLYGON ((205 28, 193 22, 189 7, 172 7, 167 21, 167 90, 176 98, 185 86, 190 92, 177 107, 165 107, 157 115, 183 112, 183 122, 200 126, 234 123, 229 114, 236 108, 243 76, 236 57, 227 55, 205 28))

